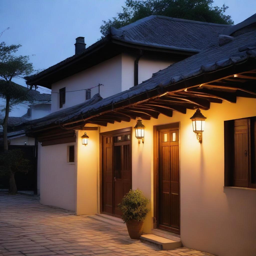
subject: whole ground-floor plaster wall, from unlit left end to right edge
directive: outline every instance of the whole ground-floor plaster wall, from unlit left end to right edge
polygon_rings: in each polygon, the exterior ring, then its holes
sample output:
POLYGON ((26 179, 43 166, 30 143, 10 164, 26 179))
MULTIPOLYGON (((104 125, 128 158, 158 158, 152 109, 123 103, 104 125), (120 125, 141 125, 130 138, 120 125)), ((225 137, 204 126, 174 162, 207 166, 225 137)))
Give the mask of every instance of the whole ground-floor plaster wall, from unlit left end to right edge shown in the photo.
MULTIPOLYGON (((143 120, 145 142, 132 134, 132 188, 150 199, 151 209, 144 232, 153 228, 153 126, 179 122, 180 214, 183 246, 219 256, 254 256, 256 244, 256 191, 224 186, 224 121, 256 116, 256 99, 237 98, 237 103, 211 103, 202 110, 207 117, 202 143, 198 143, 187 114, 173 112, 169 118, 143 120)), ((82 145, 84 131, 77 132, 76 163, 66 163, 67 145, 41 147, 41 201, 77 214, 99 211, 99 132, 134 127, 136 121, 115 122, 100 131, 87 131, 89 142, 82 145), (47 148, 47 150, 46 150, 47 148), (49 148, 49 150, 48 150, 49 148), (62 157, 63 155, 63 157, 62 157), (44 161, 42 161, 44 159, 44 161), (45 159, 48 159, 45 161, 45 159)), ((88 124, 87 126, 93 126, 88 124)))

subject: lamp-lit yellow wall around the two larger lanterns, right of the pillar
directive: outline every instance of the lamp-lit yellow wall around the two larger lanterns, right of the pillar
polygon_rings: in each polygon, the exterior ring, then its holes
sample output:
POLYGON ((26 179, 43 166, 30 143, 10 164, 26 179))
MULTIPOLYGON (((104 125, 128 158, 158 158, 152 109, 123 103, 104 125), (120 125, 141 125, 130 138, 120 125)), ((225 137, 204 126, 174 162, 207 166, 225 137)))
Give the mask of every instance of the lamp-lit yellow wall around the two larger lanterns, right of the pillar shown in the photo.
MULTIPOLYGON (((237 98, 237 103, 211 103, 202 144, 196 139, 187 114, 144 120, 145 143, 133 132, 132 188, 150 199, 144 232, 153 228, 153 126, 180 122, 180 201, 183 246, 219 256, 254 256, 256 244, 256 190, 223 188, 224 121, 256 116, 256 99, 237 98)), ((101 132, 135 125, 135 121, 108 124, 101 132)), ((89 133, 88 133, 89 134, 89 133)))

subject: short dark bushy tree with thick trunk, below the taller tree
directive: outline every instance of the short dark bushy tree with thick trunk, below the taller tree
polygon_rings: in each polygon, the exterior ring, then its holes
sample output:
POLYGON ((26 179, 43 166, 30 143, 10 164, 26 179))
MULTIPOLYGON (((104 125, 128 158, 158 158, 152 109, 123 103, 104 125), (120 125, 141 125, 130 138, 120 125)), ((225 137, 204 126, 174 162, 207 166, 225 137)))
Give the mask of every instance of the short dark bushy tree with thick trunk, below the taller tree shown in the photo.
POLYGON ((24 152, 20 149, 9 150, 0 155, 0 177, 9 175, 9 194, 17 193, 15 173, 27 173, 31 168, 30 161, 24 158, 24 152))

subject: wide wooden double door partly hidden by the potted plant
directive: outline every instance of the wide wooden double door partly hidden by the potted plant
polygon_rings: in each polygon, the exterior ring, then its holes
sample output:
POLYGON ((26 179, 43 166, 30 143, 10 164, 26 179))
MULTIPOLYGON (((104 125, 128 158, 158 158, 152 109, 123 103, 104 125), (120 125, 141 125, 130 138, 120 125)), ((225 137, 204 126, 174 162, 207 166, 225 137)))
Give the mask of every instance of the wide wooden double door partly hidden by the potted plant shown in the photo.
POLYGON ((102 212, 121 217, 118 204, 132 188, 131 131, 102 136, 102 212))

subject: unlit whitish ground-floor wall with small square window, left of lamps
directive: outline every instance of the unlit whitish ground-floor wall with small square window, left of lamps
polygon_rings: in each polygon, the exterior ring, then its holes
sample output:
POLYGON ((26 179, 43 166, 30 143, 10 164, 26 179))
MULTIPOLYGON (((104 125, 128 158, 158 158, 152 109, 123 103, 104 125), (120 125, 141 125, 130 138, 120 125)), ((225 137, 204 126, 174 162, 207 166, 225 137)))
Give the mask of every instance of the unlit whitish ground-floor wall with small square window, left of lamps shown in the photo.
POLYGON ((67 147, 74 144, 38 143, 41 204, 76 211, 76 165, 67 162, 67 147))

